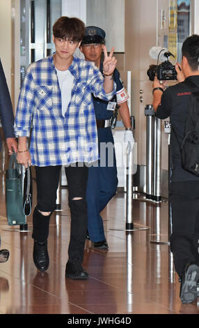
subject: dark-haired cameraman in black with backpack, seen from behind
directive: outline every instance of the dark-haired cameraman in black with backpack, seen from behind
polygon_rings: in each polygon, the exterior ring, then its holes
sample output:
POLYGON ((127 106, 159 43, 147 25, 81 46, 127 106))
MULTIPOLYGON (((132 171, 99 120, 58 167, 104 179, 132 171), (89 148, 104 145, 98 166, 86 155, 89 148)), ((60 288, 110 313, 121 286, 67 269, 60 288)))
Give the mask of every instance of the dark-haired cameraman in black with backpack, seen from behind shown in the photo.
POLYGON ((171 164, 170 202, 172 235, 170 250, 180 276, 180 299, 191 303, 199 296, 199 36, 182 45, 179 83, 165 89, 153 82, 153 107, 159 119, 170 117, 171 164))

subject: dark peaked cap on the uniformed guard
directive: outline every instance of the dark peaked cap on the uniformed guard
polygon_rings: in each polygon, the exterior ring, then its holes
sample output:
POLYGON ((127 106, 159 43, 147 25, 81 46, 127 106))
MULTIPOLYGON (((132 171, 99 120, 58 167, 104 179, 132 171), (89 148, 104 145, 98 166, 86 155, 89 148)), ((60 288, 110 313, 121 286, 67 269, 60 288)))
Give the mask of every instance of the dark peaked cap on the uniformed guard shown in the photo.
POLYGON ((104 43, 105 36, 106 33, 104 29, 100 29, 100 27, 86 27, 85 36, 83 36, 81 45, 89 43, 104 43))

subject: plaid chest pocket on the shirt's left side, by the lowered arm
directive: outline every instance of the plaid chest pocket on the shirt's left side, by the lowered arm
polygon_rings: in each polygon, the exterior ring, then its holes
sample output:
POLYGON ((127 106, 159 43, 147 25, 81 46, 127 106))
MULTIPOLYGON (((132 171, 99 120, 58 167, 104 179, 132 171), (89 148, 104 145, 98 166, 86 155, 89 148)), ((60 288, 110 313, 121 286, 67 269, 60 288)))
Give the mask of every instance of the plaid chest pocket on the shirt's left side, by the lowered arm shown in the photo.
POLYGON ((53 86, 36 87, 35 105, 38 110, 49 112, 52 108, 52 91, 53 86))

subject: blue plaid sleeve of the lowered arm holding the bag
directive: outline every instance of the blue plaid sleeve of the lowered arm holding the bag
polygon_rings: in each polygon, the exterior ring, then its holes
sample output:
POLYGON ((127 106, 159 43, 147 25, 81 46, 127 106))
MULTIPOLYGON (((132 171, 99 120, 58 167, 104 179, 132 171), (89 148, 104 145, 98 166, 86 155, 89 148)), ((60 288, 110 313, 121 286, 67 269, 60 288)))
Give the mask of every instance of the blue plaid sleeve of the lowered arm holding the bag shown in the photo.
POLYGON ((17 112, 15 116, 15 135, 17 137, 29 137, 31 130, 31 119, 34 108, 35 83, 31 74, 31 68, 26 70, 24 83, 19 94, 17 112))

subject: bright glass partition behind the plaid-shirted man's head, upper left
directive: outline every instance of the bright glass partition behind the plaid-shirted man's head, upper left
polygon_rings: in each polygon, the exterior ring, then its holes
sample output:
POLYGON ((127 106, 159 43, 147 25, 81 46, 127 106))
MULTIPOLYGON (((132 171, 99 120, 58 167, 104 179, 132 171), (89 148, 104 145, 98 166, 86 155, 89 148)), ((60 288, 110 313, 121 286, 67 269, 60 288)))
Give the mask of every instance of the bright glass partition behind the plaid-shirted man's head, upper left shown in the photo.
POLYGON ((26 68, 54 52, 52 27, 61 17, 61 0, 20 1, 21 84, 26 68))

